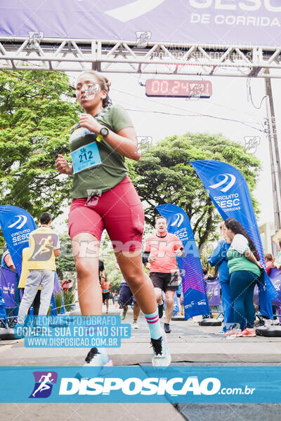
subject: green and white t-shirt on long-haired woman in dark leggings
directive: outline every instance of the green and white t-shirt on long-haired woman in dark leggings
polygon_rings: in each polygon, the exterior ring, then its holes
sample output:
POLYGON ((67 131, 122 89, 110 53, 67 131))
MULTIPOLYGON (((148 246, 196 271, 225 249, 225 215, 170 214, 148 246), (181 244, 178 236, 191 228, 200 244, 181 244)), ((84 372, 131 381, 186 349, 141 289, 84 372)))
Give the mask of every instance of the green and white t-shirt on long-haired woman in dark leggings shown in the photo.
POLYGON ((250 250, 247 238, 242 234, 236 234, 230 248, 228 248, 228 252, 226 253, 228 258, 229 274, 232 274, 237 270, 248 270, 249 272, 253 272, 254 274, 260 276, 261 269, 259 266, 244 256, 247 250, 250 250))

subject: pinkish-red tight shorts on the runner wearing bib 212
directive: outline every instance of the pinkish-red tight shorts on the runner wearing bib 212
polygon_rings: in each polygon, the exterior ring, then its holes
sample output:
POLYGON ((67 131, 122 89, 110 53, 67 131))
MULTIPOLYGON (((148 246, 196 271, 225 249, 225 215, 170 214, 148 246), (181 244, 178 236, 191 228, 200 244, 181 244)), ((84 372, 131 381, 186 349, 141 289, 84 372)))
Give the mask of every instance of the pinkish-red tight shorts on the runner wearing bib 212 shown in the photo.
POLYGON ((130 178, 126 175, 117 186, 90 200, 86 197, 73 199, 68 229, 71 239, 87 232, 98 240, 106 229, 115 251, 141 250, 143 205, 130 178))

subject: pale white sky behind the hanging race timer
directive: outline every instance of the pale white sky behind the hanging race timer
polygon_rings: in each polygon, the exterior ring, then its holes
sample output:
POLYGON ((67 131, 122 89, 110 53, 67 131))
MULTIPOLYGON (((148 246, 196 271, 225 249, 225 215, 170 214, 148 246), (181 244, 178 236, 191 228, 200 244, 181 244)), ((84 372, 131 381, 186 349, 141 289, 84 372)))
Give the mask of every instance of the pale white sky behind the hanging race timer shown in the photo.
MULTIPOLYGON (((79 75, 69 74, 70 81, 79 75)), ((251 79, 251 97, 256 109, 249 99, 246 77, 213 76, 208 77, 212 83, 211 98, 190 100, 185 98, 148 98, 145 95, 146 79, 155 75, 145 74, 115 74, 107 73, 110 79, 110 98, 114 104, 122 105, 130 114, 138 136, 150 136, 152 144, 156 144, 169 135, 183 135, 187 131, 203 133, 222 133, 226 138, 245 145, 245 137, 254 137, 259 145, 254 155, 261 160, 262 169, 254 191, 254 196, 260 203, 261 213, 258 223, 273 222, 273 195, 270 175, 270 159, 268 137, 263 130, 266 118, 266 101, 263 79, 251 79), (169 113, 169 114, 162 114, 169 113), (181 115, 173 115, 181 114, 181 115), (213 117, 201 116, 208 114, 213 117), (216 118, 214 118, 216 117, 216 118), (240 122, 229 121, 237 120, 240 122), (259 130, 256 130, 259 129, 259 130)), ((155 79, 172 79, 175 76, 157 75, 155 79)), ((176 76, 176 79, 197 80, 200 76, 176 76)), ((281 112, 279 92, 280 79, 271 79, 275 117, 277 119, 277 135, 280 139, 280 123, 277 116, 281 112)), ((280 142, 279 142, 280 143, 280 142)), ((253 151, 251 151, 253 152, 253 151)), ((63 229, 62 222, 67 218, 67 211, 54 221, 55 227, 63 229)), ((66 226, 65 226, 66 227, 66 226)))

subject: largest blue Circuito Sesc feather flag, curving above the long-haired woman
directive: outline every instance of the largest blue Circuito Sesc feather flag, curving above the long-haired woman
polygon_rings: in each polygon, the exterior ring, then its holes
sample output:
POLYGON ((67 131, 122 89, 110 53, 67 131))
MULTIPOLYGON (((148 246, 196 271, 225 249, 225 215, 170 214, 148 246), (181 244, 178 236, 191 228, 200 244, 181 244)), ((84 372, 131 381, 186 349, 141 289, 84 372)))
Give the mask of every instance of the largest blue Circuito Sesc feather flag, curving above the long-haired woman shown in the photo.
MULTIPOLYGON (((256 223, 249 188, 243 175, 226 162, 200 160, 190 161, 190 163, 223 220, 235 218, 240 222, 252 241, 254 241, 261 262, 266 267, 259 227, 256 223)), ((261 314, 270 317, 270 319, 273 319, 271 301, 277 295, 278 293, 273 283, 270 281, 266 270, 264 270, 259 282, 260 311, 261 314)))

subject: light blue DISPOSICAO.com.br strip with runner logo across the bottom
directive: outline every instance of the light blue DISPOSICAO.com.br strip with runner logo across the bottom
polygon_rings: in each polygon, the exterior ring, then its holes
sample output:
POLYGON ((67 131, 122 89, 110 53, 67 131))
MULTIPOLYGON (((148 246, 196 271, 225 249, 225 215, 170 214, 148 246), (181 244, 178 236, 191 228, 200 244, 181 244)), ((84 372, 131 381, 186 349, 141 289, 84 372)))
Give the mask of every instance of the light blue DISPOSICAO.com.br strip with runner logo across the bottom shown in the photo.
POLYGON ((279 366, 1 367, 0 402, 278 403, 280 378, 279 366))

